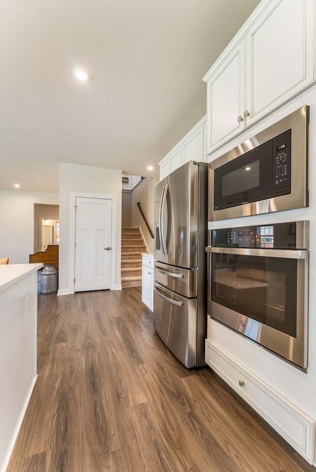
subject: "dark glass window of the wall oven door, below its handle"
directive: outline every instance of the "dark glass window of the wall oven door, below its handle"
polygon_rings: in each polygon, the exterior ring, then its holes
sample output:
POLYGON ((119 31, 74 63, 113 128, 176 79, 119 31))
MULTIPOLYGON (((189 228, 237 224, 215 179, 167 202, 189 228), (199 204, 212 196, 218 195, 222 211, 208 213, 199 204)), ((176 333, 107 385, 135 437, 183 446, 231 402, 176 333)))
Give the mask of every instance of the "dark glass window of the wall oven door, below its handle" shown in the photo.
POLYGON ((212 253, 211 301, 295 338, 298 259, 269 253, 212 253))

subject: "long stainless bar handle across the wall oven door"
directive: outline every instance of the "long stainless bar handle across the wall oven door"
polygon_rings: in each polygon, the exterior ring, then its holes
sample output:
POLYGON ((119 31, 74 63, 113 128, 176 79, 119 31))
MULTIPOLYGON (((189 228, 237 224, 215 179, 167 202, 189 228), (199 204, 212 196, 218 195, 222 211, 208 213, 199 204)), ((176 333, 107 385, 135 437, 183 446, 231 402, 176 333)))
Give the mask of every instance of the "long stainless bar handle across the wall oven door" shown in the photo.
POLYGON ((282 257, 283 259, 305 259, 306 251, 293 249, 260 249, 260 248, 205 248, 207 253, 259 255, 265 257, 282 257))

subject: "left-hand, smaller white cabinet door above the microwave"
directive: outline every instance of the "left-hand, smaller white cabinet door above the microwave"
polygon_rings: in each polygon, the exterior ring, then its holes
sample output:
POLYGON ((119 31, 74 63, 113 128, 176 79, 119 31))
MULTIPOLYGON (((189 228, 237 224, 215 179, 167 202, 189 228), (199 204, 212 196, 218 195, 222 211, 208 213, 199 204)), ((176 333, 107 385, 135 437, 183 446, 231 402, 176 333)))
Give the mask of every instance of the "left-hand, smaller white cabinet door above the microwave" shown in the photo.
POLYGON ((207 81, 207 152, 243 130, 244 39, 207 81))

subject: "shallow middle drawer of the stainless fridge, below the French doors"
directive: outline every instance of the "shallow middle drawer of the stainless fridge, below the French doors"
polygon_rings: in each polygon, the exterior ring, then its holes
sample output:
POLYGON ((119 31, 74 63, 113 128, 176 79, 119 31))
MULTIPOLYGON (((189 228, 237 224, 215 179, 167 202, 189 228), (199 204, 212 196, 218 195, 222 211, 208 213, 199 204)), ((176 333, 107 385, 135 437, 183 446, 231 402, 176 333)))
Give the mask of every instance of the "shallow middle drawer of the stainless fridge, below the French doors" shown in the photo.
POLYGON ((197 296, 197 270, 180 269, 155 261, 154 279, 169 290, 188 298, 197 296))

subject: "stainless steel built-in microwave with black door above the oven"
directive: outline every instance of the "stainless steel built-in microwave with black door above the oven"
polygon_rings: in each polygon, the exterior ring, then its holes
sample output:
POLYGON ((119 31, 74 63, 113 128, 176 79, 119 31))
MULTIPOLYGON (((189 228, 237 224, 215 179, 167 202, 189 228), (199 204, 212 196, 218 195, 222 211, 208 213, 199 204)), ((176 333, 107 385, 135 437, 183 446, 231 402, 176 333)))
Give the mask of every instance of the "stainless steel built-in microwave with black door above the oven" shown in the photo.
POLYGON ((308 124, 304 105, 210 162, 209 221, 307 207, 308 124))

